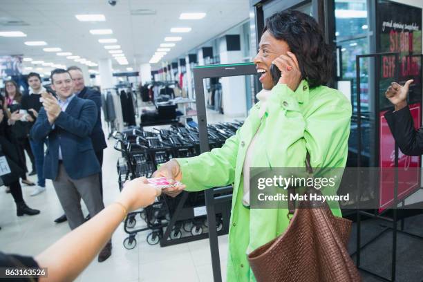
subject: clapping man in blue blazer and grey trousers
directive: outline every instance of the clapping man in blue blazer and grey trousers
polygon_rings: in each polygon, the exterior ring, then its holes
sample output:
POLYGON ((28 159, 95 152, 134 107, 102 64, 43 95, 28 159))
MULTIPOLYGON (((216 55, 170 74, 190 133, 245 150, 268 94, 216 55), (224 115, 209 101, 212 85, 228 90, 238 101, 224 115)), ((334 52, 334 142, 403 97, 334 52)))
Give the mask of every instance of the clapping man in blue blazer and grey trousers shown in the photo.
MULTIPOLYGON (((48 137, 44 175, 53 180, 68 224, 75 229, 84 223, 81 198, 91 216, 104 209, 98 180, 100 164, 90 138, 97 121, 97 106, 91 100, 76 97, 68 71, 55 69, 50 79, 58 99, 42 95, 43 108, 30 134, 34 140, 48 137)), ((111 242, 98 260, 104 261, 110 255, 111 242)))

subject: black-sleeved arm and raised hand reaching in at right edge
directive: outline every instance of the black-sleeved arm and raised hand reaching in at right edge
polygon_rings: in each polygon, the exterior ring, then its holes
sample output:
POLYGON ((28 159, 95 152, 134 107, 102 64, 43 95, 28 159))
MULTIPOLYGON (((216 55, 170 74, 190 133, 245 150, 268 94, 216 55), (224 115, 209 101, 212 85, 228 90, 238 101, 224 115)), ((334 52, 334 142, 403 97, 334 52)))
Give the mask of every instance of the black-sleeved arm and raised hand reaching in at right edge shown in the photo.
POLYGON ((404 86, 393 82, 386 90, 385 96, 394 105, 394 109, 385 113, 389 129, 401 149, 408 156, 423 154, 423 128, 415 129, 413 117, 408 109, 407 95, 413 79, 408 80, 404 86))

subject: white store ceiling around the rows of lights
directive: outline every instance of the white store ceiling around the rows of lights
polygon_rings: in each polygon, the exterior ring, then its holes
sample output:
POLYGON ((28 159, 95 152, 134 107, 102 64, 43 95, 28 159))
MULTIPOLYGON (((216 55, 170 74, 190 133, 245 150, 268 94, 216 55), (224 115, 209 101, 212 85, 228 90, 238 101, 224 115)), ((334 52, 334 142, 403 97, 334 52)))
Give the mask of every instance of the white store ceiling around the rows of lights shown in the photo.
MULTIPOLYGON (((180 36, 181 41, 162 58, 170 61, 248 18, 249 0, 1 0, 0 31, 21 31, 27 37, 0 37, 0 55, 23 55, 34 60, 70 66, 75 63, 43 48, 59 47, 62 52, 97 63, 111 58, 114 69, 124 70, 147 63, 164 37, 180 36), (136 15, 144 13, 153 15, 136 15), (199 20, 180 20, 182 12, 205 12, 199 20), (83 22, 75 15, 102 14, 106 21, 83 22), (171 33, 173 27, 190 27, 188 33, 171 33), (110 28, 112 35, 91 35, 91 29, 110 28), (98 39, 115 38, 128 59, 122 66, 98 39), (26 46, 25 41, 46 41, 48 46, 26 46)), ((24 62, 26 66, 34 66, 24 62)), ((160 63, 159 63, 160 64, 160 63)), ((50 71, 44 67, 45 71, 50 71)))

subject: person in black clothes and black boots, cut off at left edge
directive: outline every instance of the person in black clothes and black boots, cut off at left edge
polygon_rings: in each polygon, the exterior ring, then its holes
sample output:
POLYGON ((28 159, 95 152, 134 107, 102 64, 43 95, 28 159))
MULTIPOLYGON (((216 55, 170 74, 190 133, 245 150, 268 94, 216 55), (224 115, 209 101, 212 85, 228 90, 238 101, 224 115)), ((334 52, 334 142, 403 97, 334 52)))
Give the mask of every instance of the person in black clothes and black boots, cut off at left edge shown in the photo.
MULTIPOLYGON (((3 100, 0 100, 0 156, 6 157, 10 173, 0 176, 3 185, 10 187, 10 193, 16 203, 17 216, 34 216, 39 214, 38 209, 31 209, 23 200, 22 188, 19 183, 19 178, 25 174, 23 169, 22 158, 19 156, 19 149, 17 148, 17 141, 13 137, 8 125, 8 118, 3 112, 3 100)), ((4 167, 3 167, 4 168, 4 167)), ((2 168, 2 169, 3 169, 2 168)))

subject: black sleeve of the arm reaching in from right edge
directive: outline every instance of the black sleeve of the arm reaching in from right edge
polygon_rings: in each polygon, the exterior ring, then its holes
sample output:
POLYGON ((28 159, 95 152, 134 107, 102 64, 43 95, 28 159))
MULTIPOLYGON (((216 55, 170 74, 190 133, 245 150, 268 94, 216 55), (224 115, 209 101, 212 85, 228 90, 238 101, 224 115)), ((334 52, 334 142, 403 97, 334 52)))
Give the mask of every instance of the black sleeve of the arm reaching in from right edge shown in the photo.
POLYGON ((408 106, 395 112, 387 111, 385 118, 402 153, 408 156, 423 154, 423 128, 415 130, 408 106))

